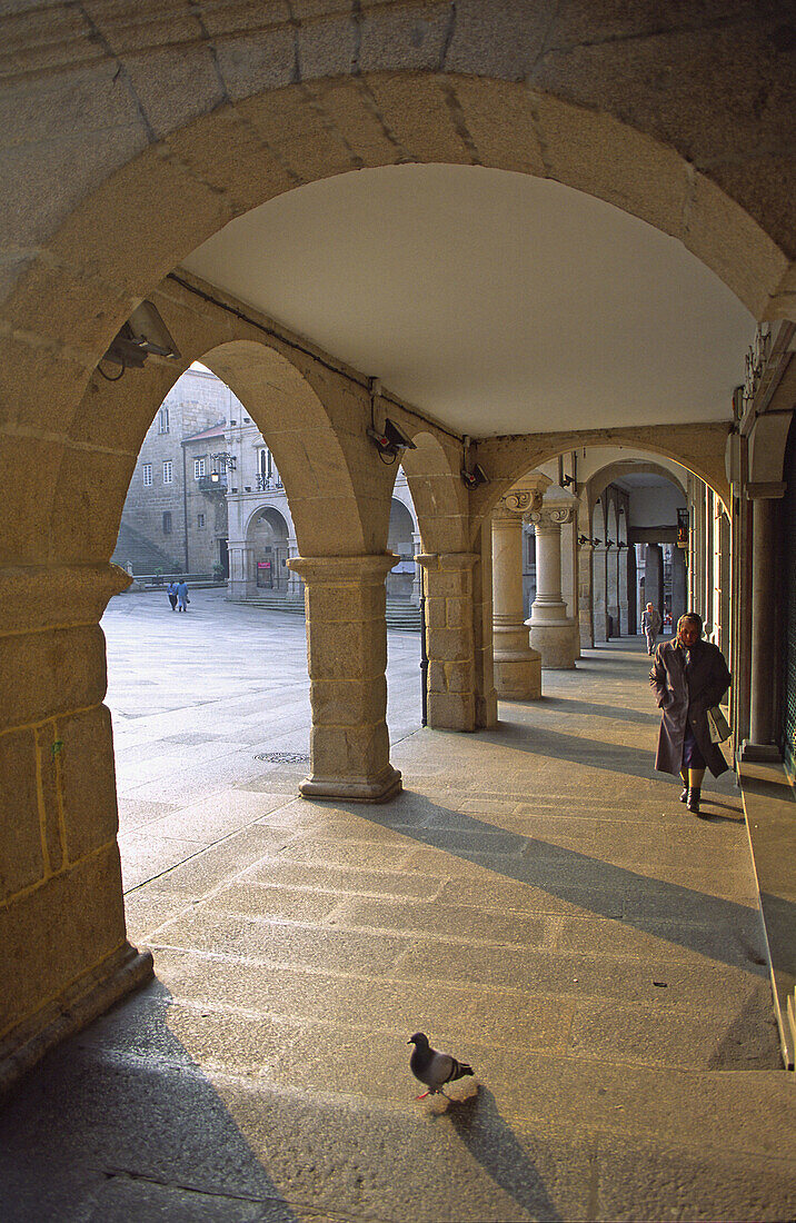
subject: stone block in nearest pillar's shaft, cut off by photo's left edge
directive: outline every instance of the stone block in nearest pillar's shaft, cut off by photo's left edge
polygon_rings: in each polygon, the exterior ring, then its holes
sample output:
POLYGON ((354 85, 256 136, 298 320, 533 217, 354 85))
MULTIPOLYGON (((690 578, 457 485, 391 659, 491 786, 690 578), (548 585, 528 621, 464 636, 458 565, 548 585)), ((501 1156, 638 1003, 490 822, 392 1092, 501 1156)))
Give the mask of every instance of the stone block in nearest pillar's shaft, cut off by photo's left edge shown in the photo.
POLYGON ((7 900, 44 874, 32 730, 0 735, 0 900, 7 900))

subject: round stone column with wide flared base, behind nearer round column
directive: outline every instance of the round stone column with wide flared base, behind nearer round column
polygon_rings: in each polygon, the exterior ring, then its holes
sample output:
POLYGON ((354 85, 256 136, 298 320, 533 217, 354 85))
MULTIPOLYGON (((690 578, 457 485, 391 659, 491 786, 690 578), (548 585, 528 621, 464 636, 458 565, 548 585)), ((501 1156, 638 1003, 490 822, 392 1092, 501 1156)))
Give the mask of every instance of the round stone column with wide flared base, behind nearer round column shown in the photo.
MULTIPOLYGON (((558 490, 556 490, 558 492, 558 490)), ((561 490, 564 492, 564 490, 561 490)), ((561 597, 561 525, 570 522, 576 499, 569 504, 550 499, 529 517, 537 534, 537 597, 531 608, 531 645, 542 654, 542 667, 571 670, 575 667, 572 620, 561 597)))

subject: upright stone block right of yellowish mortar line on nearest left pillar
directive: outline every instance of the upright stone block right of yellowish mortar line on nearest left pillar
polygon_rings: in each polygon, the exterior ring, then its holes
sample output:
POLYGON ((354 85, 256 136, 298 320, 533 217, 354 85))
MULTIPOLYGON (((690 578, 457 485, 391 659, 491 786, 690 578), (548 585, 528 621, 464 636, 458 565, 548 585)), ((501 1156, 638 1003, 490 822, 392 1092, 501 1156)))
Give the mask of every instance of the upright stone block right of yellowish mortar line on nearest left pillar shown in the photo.
POLYGON ((110 712, 105 706, 59 719, 66 851, 76 862, 119 830, 110 712))

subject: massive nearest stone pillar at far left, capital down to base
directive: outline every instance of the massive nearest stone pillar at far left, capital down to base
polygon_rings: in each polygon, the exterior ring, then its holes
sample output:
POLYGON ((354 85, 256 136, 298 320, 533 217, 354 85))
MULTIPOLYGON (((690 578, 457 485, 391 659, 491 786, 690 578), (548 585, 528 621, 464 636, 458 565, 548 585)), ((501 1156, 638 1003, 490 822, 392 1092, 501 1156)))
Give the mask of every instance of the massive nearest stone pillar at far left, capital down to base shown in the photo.
POLYGON ((99 619, 115 565, 0 571, 0 1090, 152 976, 127 943, 99 619))

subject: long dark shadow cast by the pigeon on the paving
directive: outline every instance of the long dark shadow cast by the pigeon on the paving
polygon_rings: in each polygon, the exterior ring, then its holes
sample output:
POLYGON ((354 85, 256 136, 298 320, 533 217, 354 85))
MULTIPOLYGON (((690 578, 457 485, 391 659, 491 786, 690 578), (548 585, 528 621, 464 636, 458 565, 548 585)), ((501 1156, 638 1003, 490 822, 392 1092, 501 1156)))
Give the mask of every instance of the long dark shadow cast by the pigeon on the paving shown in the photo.
POLYGON ((537 1164, 500 1115, 494 1095, 478 1084, 462 1098, 445 1097, 445 1117, 499 1189, 534 1219, 560 1221, 537 1164))

